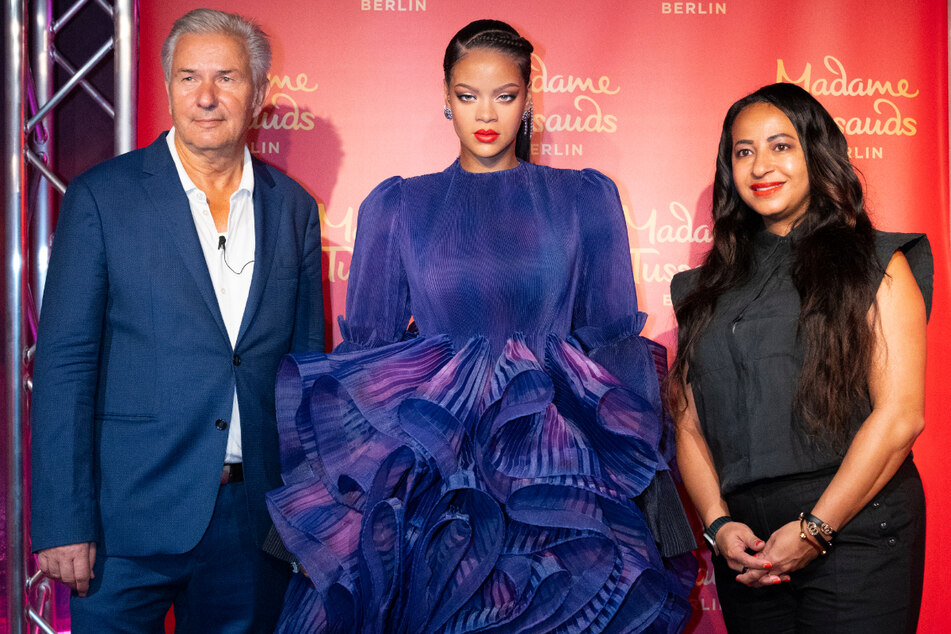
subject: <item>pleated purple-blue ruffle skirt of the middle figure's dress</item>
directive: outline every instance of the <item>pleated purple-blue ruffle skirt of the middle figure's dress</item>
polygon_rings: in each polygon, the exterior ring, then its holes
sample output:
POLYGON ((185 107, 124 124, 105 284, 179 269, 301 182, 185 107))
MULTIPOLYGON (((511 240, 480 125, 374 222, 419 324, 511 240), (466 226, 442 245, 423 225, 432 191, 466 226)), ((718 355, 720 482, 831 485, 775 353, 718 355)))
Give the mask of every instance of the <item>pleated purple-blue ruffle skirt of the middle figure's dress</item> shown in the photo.
POLYGON ((284 360, 268 504, 307 576, 278 632, 683 628, 692 555, 662 558, 632 502, 669 480, 660 412, 557 337, 544 365, 489 349, 284 360))

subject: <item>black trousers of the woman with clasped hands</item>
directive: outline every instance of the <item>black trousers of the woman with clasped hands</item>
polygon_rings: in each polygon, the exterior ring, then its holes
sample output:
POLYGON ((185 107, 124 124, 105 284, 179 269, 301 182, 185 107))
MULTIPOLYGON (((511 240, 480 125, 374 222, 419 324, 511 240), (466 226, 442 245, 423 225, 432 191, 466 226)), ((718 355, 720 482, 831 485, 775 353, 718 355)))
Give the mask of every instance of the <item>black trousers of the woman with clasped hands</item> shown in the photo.
MULTIPOLYGON (((755 483, 726 496, 730 515, 761 539, 811 511, 834 471, 755 483)), ((748 588, 714 557, 717 595, 731 634, 914 634, 921 606, 925 501, 911 457, 846 524, 825 557, 791 581, 748 588)))

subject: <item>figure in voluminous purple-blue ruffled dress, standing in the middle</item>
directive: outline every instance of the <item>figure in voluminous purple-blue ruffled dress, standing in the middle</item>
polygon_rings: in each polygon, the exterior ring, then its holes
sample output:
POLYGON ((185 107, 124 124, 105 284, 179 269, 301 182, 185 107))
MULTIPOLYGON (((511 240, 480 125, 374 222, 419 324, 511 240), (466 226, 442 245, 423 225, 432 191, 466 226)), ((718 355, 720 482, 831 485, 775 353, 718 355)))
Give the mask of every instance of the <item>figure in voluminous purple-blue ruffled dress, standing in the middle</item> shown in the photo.
POLYGON ((689 615, 695 542, 617 189, 525 160, 531 51, 492 20, 453 38, 458 160, 373 190, 343 343, 281 370, 270 502, 309 579, 280 631, 675 632, 689 615))

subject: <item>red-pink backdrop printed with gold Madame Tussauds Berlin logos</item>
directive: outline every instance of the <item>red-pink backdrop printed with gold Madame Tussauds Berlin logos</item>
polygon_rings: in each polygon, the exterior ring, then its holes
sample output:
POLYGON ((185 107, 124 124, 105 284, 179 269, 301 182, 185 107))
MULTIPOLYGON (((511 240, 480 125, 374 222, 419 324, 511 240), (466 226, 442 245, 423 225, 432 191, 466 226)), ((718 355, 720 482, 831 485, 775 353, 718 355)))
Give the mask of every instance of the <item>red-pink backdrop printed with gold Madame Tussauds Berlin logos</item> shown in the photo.
MULTIPOLYGON (((170 125, 158 64, 172 21, 194 5, 142 3, 139 143, 170 125)), ((442 115, 441 61, 477 18, 514 25, 536 47, 536 162, 595 167, 628 217, 646 333, 672 346, 669 282, 708 247, 714 158, 728 106, 777 80, 810 90, 837 117, 884 229, 928 232, 936 256, 927 429, 915 448, 928 501, 921 632, 949 628, 951 401, 947 5, 630 2, 629 0, 259 0, 209 6, 271 34, 268 108, 252 151, 321 203, 328 329, 344 311, 360 202, 393 174, 445 168, 458 143, 442 115)), ((517 270, 511 271, 518 275, 517 270)), ((692 631, 722 632, 708 554, 692 631)))

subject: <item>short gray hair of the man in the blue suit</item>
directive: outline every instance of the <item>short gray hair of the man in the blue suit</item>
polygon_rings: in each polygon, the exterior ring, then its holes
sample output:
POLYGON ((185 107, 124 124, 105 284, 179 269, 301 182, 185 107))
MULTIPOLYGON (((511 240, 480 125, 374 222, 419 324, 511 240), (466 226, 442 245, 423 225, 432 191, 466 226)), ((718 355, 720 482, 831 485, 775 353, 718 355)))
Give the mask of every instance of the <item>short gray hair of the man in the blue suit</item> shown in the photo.
POLYGON ((175 45, 178 38, 185 33, 231 35, 238 38, 244 42, 251 58, 251 76, 255 87, 260 87, 267 81, 267 73, 271 69, 271 44, 268 42, 267 33, 261 30, 260 26, 235 13, 194 9, 175 20, 172 30, 162 44, 162 70, 166 82, 172 78, 175 45))

